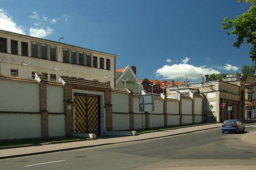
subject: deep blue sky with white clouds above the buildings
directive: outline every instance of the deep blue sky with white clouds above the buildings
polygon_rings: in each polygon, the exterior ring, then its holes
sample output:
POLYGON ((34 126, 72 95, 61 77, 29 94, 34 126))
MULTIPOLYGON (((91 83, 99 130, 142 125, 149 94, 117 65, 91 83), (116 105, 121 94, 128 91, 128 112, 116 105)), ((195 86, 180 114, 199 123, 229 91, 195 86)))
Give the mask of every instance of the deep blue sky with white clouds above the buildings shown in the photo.
POLYGON ((116 69, 136 66, 139 79, 200 82, 253 64, 247 44, 233 47, 237 37, 221 29, 224 17, 249 7, 236 0, 2 0, 0 29, 118 55, 116 69))

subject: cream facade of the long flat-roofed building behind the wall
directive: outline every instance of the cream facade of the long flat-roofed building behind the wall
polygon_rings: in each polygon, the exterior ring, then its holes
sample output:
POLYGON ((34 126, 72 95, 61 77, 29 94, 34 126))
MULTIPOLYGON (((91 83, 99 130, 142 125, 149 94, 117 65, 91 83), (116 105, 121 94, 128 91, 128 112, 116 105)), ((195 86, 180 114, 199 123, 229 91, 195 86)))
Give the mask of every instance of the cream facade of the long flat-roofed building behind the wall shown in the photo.
POLYGON ((42 73, 48 80, 70 76, 116 83, 117 55, 0 30, 0 72, 34 78, 42 73))

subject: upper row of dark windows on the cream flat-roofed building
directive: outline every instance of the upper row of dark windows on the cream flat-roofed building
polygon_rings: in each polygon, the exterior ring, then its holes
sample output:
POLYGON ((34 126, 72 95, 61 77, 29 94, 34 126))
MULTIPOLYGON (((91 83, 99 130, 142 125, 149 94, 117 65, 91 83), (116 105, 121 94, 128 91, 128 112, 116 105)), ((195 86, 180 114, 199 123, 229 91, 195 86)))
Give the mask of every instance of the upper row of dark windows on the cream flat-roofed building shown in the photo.
MULTIPOLYGON (((22 56, 28 56, 28 43, 21 42, 22 56)), ((84 53, 77 50, 63 48, 63 62, 86 65, 98 68, 98 57, 91 53, 84 53)), ((0 37, 0 52, 7 53, 7 38, 0 37)), ((18 54, 18 41, 11 40, 11 54, 18 54)), ((31 57, 57 61, 57 46, 45 43, 31 42, 31 57)), ((110 70, 110 59, 99 58, 99 68, 110 70), (106 68, 104 68, 106 62, 106 68)))

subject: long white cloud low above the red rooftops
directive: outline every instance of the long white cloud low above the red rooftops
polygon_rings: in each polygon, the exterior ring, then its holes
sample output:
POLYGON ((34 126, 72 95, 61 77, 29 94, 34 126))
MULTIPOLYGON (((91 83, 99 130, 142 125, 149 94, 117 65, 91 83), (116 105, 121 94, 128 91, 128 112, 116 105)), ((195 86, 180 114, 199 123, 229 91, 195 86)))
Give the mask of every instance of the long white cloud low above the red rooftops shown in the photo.
POLYGON ((206 68, 206 66, 196 67, 189 64, 174 64, 174 65, 164 65, 156 71, 157 77, 163 76, 165 79, 175 79, 179 77, 189 76, 190 79, 198 79, 198 75, 211 75, 220 74, 218 70, 212 68, 206 68), (194 77, 193 77, 194 75, 194 77))

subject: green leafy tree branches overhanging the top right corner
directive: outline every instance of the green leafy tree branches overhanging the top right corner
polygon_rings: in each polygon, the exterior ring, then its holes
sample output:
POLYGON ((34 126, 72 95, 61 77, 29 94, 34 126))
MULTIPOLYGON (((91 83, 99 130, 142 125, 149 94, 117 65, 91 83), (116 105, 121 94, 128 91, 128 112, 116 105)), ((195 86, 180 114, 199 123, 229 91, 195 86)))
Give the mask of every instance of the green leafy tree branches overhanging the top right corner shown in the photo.
POLYGON ((224 18, 222 22, 222 29, 232 31, 227 32, 228 35, 237 35, 237 42, 233 43, 234 47, 239 48, 246 39, 246 43, 250 48, 250 59, 255 62, 256 60, 256 0, 238 0, 238 2, 250 3, 251 6, 246 13, 241 16, 238 15, 237 19, 224 18))

